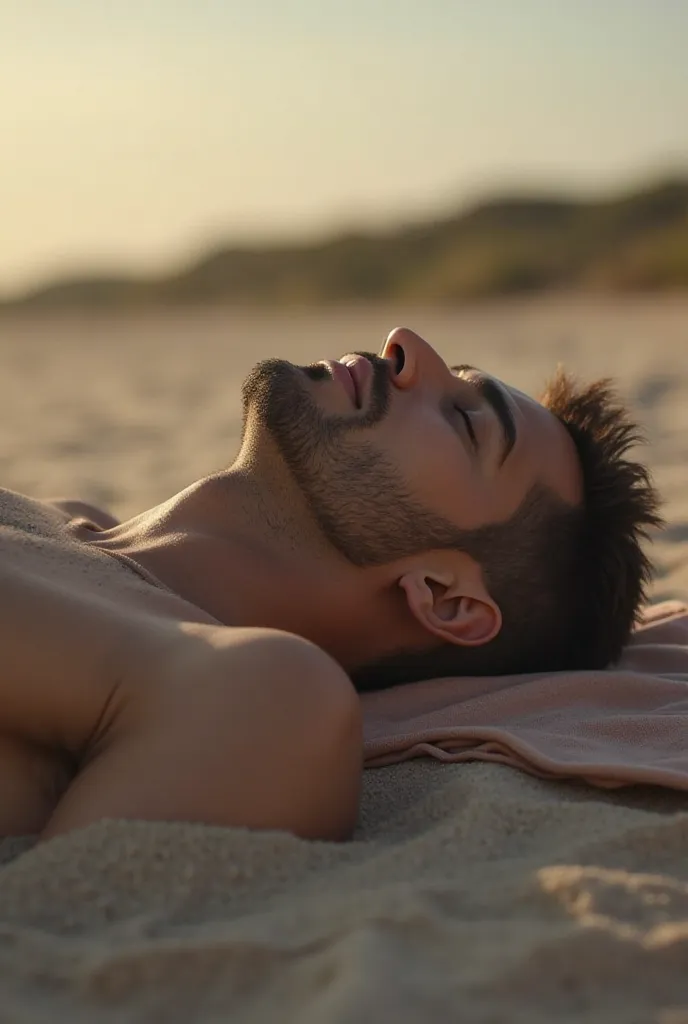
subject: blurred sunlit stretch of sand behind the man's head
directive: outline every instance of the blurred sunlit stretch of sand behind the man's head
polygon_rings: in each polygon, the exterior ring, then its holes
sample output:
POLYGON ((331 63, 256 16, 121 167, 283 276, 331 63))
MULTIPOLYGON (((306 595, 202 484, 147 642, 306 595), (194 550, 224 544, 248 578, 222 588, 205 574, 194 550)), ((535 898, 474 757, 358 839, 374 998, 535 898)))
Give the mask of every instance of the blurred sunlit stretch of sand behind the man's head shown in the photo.
POLYGON ((360 308, 261 313, 0 318, 0 483, 134 515, 226 466, 242 381, 258 359, 379 351, 406 325, 447 360, 529 394, 562 362, 611 376, 649 441, 643 458, 670 526, 655 597, 688 593, 688 298, 543 299, 462 311, 360 308))

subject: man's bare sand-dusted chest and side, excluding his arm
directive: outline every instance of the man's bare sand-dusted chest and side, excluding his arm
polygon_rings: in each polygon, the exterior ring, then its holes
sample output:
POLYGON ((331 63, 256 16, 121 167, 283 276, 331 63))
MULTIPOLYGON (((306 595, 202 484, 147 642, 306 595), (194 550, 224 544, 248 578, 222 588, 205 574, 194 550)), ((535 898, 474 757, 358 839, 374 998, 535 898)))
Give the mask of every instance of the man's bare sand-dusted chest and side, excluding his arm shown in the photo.
POLYGON ((43 827, 123 680, 219 626, 85 543, 97 529, 0 489, 0 836, 43 827))

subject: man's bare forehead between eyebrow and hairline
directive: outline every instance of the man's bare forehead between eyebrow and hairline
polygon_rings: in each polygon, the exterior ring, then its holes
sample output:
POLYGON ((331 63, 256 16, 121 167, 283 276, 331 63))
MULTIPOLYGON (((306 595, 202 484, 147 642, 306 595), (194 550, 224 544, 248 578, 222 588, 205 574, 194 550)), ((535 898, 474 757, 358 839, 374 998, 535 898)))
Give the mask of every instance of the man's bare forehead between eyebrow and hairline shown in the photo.
MULTIPOLYGON (((500 382, 516 421, 513 470, 532 475, 570 504, 583 498, 583 474, 573 439, 563 423, 541 402, 500 382)), ((511 459, 509 459, 511 462, 511 459)))

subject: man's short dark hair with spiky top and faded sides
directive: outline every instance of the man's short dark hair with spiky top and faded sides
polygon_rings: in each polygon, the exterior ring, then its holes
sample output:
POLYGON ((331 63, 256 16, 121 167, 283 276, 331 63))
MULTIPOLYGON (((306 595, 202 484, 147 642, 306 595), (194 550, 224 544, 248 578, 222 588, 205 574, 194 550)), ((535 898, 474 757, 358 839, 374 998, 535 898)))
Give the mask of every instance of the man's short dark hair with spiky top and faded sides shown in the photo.
POLYGON ((661 525, 645 466, 627 458, 643 438, 609 380, 579 385, 559 370, 541 395, 573 439, 584 497, 569 505, 531 488, 506 522, 462 535, 480 563, 502 629, 479 646, 400 651, 352 674, 360 689, 439 676, 599 669, 628 641, 651 577, 642 542, 661 525))

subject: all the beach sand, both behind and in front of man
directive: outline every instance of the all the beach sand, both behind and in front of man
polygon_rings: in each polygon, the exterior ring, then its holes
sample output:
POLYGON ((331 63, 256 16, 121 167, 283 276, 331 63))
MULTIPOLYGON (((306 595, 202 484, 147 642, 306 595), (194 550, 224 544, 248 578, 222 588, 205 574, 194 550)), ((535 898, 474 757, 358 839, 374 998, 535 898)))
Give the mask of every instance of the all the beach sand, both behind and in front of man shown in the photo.
MULTIPOLYGON (((688 597, 688 299, 0 321, 0 482, 131 515, 220 468, 267 355, 407 324, 524 390, 618 379, 688 597)), ((364 773, 353 842, 104 822, 0 843, 0 1021, 688 1021, 688 806, 501 765, 364 773)))

